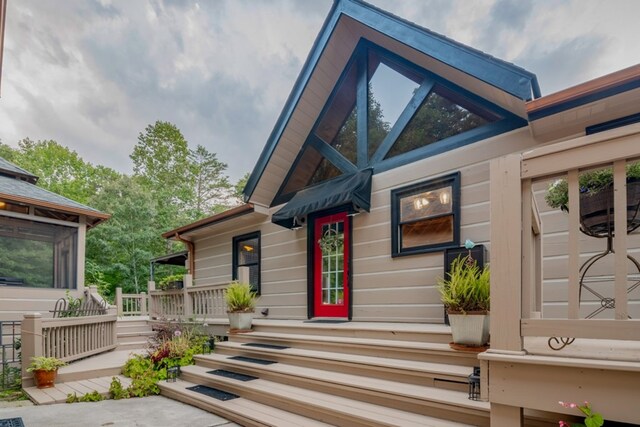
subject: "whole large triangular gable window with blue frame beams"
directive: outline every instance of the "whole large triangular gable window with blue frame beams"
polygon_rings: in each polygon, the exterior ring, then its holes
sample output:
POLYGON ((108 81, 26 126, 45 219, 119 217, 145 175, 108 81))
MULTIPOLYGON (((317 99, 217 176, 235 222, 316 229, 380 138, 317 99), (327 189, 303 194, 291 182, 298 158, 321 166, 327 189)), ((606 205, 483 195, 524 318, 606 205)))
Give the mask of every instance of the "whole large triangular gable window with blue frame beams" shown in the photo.
POLYGON ((526 121, 363 40, 273 200, 344 173, 388 170, 526 121))

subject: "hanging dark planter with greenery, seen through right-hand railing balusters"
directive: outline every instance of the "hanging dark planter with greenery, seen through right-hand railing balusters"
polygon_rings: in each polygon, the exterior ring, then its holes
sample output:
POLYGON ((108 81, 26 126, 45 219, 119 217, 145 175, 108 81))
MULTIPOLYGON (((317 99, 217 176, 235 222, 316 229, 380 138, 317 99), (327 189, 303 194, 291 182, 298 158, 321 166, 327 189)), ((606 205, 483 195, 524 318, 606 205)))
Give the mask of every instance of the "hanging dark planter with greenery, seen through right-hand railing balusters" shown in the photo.
MULTIPOLYGON (((581 231, 595 237, 613 234, 613 170, 585 172, 578 177, 580 186, 581 231)), ((568 212, 568 188, 565 179, 553 182, 545 200, 552 208, 568 212)), ((640 227, 640 162, 627 165, 627 233, 640 227)))

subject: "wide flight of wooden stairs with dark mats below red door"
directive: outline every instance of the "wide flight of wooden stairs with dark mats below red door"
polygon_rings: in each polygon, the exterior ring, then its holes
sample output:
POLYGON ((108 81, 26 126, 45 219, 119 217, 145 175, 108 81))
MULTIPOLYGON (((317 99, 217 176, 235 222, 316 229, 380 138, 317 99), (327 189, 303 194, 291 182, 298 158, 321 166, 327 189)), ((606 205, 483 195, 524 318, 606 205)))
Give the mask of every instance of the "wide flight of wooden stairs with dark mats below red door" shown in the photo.
POLYGON ((489 404, 467 398, 476 355, 449 341, 440 325, 258 320, 161 390, 250 426, 488 426, 489 404), (238 398, 219 401, 194 385, 238 398))

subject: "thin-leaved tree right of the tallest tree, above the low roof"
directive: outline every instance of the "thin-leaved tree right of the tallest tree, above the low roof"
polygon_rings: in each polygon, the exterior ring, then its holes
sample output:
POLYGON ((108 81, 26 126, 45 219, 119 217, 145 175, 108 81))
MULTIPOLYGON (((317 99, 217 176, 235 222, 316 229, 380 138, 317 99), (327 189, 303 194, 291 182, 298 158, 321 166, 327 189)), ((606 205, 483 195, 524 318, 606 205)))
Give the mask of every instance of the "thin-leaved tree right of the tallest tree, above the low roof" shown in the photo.
POLYGON ((192 220, 229 207, 233 194, 229 178, 224 175, 226 169, 227 165, 202 145, 189 151, 189 178, 193 188, 190 212, 192 220))

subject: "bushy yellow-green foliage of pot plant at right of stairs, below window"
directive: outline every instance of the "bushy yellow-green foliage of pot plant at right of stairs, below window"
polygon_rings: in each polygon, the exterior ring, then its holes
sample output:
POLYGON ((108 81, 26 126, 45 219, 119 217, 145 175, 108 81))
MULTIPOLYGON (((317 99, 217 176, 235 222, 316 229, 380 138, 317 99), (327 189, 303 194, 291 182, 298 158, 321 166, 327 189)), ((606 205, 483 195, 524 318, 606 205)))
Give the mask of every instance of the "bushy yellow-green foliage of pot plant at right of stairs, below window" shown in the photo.
POLYGON ((448 278, 438 280, 440 298, 450 312, 489 311, 489 267, 458 257, 451 263, 448 278))

